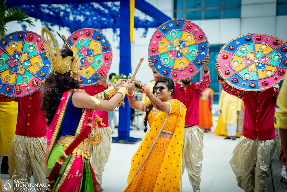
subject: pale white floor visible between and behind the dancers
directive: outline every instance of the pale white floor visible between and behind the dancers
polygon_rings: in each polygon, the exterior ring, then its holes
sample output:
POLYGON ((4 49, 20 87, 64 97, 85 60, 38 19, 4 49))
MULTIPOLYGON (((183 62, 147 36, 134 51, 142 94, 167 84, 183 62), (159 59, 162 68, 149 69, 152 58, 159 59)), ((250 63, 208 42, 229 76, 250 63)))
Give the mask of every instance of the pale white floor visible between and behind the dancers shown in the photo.
MULTIPOLYGON (((142 123, 141 120, 139 123, 142 123)), ((113 136, 117 136, 117 130, 113 136)), ((143 138, 144 132, 143 130, 131 130, 130 136, 143 138)), ((243 191, 237 186, 235 175, 228 163, 238 139, 232 141, 223 138, 212 133, 205 133, 204 135, 204 158, 200 185, 202 192, 243 191)), ((130 160, 139 145, 140 142, 134 145, 112 143, 112 151, 102 179, 102 187, 105 192, 122 192, 125 189, 130 160)), ((8 177, 8 175, 1 175, 2 179, 8 177)), ((31 182, 34 182, 33 178, 31 182)), ((182 187, 183 192, 193 191, 186 170, 182 176, 182 187)))

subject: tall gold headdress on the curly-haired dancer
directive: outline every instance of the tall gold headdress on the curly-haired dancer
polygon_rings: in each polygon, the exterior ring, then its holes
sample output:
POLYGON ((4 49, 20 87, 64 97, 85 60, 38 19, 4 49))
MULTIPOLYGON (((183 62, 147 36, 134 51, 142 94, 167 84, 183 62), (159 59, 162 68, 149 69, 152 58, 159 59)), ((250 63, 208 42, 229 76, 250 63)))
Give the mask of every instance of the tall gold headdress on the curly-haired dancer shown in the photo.
POLYGON ((66 72, 71 71, 71 77, 73 75, 73 72, 79 75, 80 72, 78 70, 78 62, 80 59, 77 53, 75 53, 71 45, 68 43, 66 37, 64 35, 62 35, 62 37, 60 36, 65 43, 65 48, 71 49, 71 51, 73 52, 73 57, 68 56, 62 58, 58 44, 55 38, 53 37, 53 34, 46 27, 43 27, 41 35, 46 55, 48 56, 48 59, 51 62, 54 72, 58 74, 64 74, 66 72), (44 41, 46 43, 44 43, 44 41), (74 59, 73 62, 72 59, 74 59))

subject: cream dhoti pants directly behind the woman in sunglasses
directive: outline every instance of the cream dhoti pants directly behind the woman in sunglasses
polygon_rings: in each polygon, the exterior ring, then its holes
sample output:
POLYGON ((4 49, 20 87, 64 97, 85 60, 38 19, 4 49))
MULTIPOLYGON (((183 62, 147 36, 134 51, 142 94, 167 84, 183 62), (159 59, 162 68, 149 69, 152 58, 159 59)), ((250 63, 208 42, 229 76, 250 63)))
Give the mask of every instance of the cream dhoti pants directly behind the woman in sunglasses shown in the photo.
POLYGON ((199 192, 203 160, 203 132, 198 125, 185 127, 181 159, 181 174, 186 167, 193 191, 199 192))

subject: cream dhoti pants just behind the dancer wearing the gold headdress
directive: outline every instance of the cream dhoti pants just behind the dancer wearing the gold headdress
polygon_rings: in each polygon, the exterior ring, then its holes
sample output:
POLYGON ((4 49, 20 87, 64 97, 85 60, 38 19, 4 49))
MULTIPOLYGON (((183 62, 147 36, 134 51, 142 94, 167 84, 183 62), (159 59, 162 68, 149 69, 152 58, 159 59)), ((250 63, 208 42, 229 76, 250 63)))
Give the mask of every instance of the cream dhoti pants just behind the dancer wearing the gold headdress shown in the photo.
MULTIPOLYGON (((102 135, 102 142, 96 146, 89 145, 89 152, 90 163, 96 175, 97 182, 102 185, 104 166, 108 162, 111 151, 112 130, 110 127, 101 127, 97 128, 97 130, 102 135)), ((95 134, 94 129, 91 134, 95 134)))

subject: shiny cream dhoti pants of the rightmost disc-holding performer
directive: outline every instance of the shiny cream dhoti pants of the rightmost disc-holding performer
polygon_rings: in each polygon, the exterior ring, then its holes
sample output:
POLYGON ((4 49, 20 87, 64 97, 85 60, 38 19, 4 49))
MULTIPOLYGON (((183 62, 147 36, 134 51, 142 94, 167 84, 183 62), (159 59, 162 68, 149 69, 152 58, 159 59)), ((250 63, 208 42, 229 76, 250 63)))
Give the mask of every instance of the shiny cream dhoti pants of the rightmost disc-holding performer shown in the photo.
POLYGON ((229 162, 238 187, 244 191, 266 191, 269 176, 267 171, 276 145, 276 139, 259 141, 258 138, 252 140, 240 137, 229 162))

